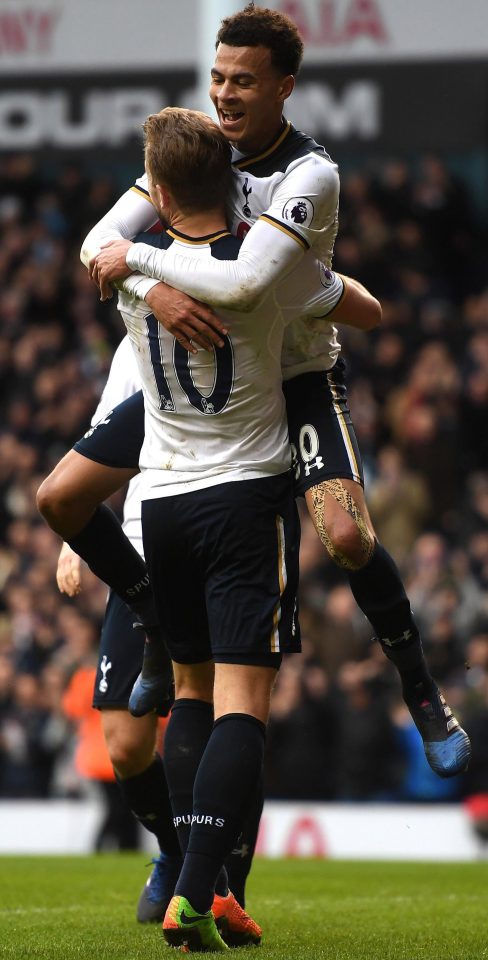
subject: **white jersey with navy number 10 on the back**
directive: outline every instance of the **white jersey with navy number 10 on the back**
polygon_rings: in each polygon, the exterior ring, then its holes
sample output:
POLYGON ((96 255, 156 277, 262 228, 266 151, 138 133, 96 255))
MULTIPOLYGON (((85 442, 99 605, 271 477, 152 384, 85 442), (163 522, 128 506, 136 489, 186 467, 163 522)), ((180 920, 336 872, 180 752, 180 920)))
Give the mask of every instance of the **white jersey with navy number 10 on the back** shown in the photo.
MULTIPOLYGON (((153 242, 170 257, 184 251, 195 261, 235 258, 239 251, 227 231, 195 240, 169 229, 153 242)), ((143 499, 289 468, 282 340, 285 324, 303 312, 306 297, 312 314, 324 309, 327 290, 312 261, 252 313, 220 312, 229 329, 224 347, 188 354, 144 301, 119 295, 144 390, 143 499)))

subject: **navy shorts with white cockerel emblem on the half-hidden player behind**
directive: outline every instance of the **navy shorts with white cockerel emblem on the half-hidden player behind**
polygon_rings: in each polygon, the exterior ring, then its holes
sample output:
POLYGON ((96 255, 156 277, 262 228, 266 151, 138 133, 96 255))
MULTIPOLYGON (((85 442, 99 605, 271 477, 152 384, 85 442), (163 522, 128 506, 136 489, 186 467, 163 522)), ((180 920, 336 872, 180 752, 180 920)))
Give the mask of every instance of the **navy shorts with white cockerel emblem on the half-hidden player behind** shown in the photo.
POLYGON ((132 687, 141 670, 146 639, 134 630, 134 614, 110 591, 100 637, 93 706, 99 710, 127 710, 132 687))

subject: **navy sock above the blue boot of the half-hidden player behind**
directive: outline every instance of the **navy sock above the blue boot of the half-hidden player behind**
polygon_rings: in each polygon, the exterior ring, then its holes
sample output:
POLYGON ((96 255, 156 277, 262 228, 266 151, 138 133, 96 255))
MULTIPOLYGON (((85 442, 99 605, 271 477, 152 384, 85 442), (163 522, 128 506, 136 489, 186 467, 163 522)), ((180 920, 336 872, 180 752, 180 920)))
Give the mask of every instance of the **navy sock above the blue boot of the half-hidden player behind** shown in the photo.
POLYGON ((154 833, 161 852, 169 857, 181 856, 163 761, 159 754, 142 773, 124 779, 117 777, 117 782, 127 806, 139 823, 154 833))

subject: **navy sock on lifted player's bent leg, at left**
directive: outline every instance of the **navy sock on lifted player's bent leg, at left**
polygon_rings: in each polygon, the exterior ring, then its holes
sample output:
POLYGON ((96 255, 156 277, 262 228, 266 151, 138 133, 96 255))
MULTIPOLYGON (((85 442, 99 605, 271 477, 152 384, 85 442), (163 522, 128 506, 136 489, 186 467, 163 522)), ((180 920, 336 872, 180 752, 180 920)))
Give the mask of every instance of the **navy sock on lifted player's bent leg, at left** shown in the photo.
POLYGON ((105 503, 97 507, 83 530, 68 543, 144 621, 156 622, 146 564, 110 507, 105 503))

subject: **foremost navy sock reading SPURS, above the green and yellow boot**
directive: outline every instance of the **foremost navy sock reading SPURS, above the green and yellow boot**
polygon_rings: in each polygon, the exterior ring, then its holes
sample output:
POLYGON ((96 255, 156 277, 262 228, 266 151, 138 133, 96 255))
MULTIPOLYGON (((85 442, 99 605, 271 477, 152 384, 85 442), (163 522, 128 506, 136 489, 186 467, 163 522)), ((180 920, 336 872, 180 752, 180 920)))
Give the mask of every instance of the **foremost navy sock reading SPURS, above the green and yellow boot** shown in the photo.
POLYGON ((175 888, 199 913, 212 905, 216 879, 262 776, 265 733, 264 723, 245 713, 214 724, 195 778, 190 839, 175 888))

